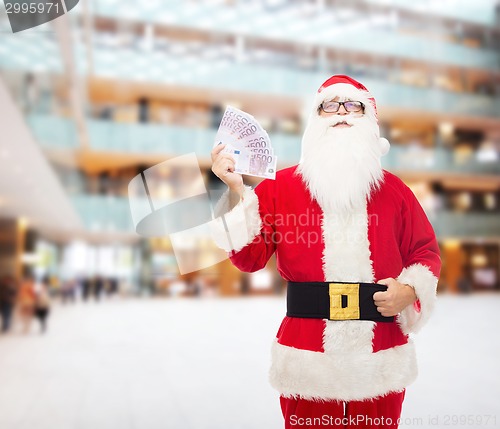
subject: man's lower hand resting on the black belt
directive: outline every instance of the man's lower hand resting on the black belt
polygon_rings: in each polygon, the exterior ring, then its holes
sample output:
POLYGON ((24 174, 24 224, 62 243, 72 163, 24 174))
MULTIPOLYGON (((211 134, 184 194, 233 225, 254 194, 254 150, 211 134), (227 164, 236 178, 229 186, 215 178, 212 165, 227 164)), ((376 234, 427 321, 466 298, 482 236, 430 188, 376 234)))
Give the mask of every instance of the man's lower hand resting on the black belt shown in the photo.
POLYGON ((382 316, 395 316, 417 300, 415 290, 411 286, 399 283, 392 277, 379 280, 378 284, 387 286, 385 292, 375 292, 373 294, 377 310, 382 316))

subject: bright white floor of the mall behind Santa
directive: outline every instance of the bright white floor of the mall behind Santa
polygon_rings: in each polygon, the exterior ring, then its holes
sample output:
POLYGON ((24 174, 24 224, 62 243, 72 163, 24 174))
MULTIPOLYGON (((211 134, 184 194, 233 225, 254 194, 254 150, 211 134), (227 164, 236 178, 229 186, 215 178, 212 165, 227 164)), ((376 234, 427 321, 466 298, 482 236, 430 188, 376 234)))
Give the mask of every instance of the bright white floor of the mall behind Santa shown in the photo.
MULTIPOLYGON (((500 427, 500 295, 438 303, 401 427, 500 427)), ((46 335, 0 337, 0 428, 279 429, 267 371, 283 312, 283 298, 56 305, 46 335)))

